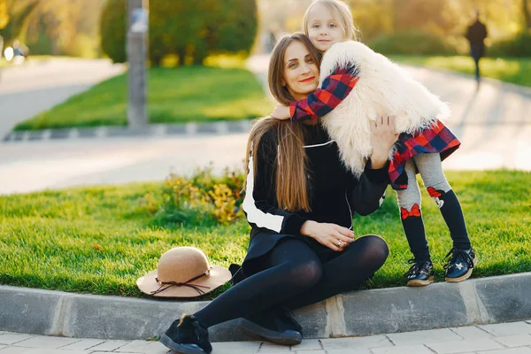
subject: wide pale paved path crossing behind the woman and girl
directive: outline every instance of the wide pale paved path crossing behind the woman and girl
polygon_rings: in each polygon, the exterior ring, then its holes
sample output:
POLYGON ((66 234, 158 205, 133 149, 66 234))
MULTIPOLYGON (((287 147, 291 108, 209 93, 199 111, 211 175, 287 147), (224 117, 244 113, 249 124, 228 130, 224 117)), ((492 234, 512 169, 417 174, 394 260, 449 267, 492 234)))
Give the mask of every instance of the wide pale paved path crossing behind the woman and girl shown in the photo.
MULTIPOLYGON (((267 59, 258 56, 249 61, 250 69, 263 79, 267 59)), ((531 171, 531 89, 485 80, 476 90, 475 81, 464 75, 407 70, 450 102, 454 112, 449 126, 462 146, 444 161, 445 169, 531 171)), ((162 181, 171 170, 189 173, 194 165, 211 161, 220 170, 241 165, 246 140, 246 134, 237 134, 0 142, 0 194, 162 181)))

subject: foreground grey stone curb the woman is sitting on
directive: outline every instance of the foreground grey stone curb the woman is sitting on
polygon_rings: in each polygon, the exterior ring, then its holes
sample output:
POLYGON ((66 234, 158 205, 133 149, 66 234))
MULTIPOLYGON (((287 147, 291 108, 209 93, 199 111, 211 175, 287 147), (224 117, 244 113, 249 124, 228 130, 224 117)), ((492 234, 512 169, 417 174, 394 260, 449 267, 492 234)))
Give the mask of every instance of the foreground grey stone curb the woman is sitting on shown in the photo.
MULTIPOLYGON (((306 338, 378 335, 531 318, 531 273, 360 290, 296 311, 306 338)), ((0 331, 104 339, 146 339, 208 302, 93 296, 0 286, 0 331)), ((213 342, 249 340, 231 320, 213 342)))

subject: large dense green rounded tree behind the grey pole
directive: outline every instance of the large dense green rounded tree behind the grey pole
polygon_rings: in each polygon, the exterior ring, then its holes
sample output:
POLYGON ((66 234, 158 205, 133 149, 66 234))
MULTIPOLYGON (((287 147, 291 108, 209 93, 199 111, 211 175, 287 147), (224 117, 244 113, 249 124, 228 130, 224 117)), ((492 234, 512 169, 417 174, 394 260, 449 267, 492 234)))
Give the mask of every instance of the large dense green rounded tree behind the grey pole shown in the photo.
MULTIPOLYGON (((102 48, 116 62, 127 60, 126 6, 109 0, 101 22, 102 48), (109 23, 112 22, 112 23, 109 23)), ((159 65, 165 55, 180 65, 202 64, 219 52, 249 53, 257 32, 256 0, 203 0, 150 3, 150 60, 159 65)))

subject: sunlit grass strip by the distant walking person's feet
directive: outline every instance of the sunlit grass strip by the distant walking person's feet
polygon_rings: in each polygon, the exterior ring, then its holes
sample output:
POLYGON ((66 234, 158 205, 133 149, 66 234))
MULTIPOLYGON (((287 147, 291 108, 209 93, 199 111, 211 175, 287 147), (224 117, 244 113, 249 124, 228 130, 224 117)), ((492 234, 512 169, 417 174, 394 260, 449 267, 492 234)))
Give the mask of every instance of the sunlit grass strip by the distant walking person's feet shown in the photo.
MULTIPOLYGON (((459 73, 475 73, 473 58, 391 56, 398 63, 446 69, 459 73)), ((492 79, 531 87, 531 58, 482 58, 481 75, 492 79)))

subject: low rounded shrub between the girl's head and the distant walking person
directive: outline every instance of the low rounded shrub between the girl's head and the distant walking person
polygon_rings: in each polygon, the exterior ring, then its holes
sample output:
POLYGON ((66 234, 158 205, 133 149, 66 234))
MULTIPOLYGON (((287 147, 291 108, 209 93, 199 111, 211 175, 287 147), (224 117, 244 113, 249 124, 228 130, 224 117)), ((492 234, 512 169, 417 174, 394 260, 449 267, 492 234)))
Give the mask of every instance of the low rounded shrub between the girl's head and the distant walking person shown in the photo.
POLYGON ((456 50, 443 37, 411 30, 391 35, 380 35, 369 46, 384 55, 452 55, 456 50))

